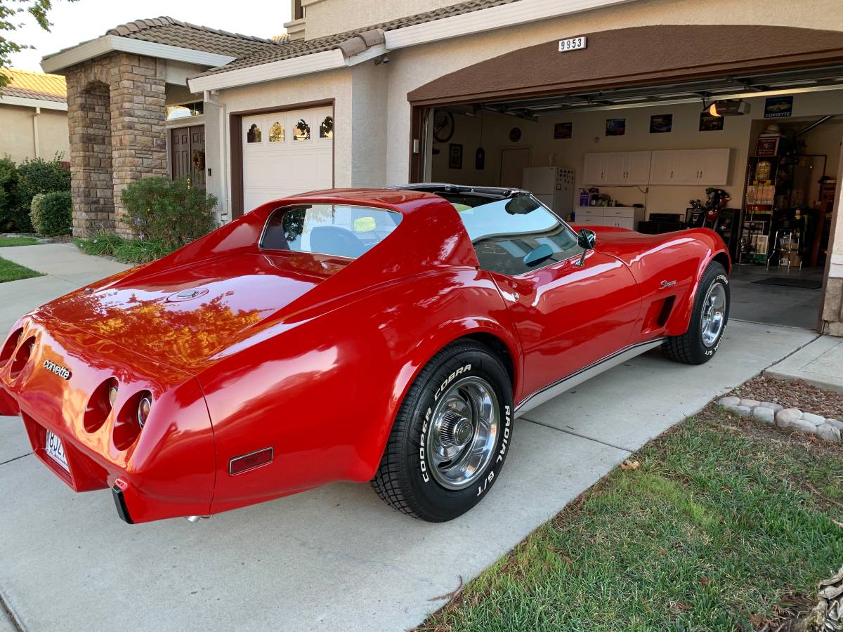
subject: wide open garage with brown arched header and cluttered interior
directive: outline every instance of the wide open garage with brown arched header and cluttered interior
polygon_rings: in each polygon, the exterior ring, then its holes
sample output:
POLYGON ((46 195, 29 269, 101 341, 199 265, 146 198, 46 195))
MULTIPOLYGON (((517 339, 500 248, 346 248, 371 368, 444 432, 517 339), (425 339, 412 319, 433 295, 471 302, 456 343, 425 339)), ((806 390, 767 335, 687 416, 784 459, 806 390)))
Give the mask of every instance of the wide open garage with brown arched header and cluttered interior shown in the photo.
POLYGON ((735 263, 733 319, 817 327, 840 207, 843 35, 724 26, 706 44, 708 29, 609 31, 566 53, 551 41, 416 88, 413 137, 427 143, 411 179, 522 186, 598 234, 712 228, 735 263), (664 45, 607 64, 636 34, 664 45), (529 156, 520 178, 516 154, 529 156))

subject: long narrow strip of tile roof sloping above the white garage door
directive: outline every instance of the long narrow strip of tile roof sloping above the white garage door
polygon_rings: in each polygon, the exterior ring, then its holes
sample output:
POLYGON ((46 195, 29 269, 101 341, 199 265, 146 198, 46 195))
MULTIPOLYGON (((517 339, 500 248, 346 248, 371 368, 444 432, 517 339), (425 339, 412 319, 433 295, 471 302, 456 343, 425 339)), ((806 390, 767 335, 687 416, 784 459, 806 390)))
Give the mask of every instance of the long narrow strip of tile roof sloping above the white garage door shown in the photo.
POLYGON ((203 72, 200 76, 217 74, 217 72, 228 72, 229 70, 237 70, 239 68, 260 66, 261 64, 271 62, 281 62, 285 59, 293 59, 293 57, 301 57, 312 53, 330 51, 331 49, 336 48, 336 46, 341 42, 350 40, 358 33, 368 30, 383 29, 384 31, 389 31, 402 29, 406 26, 415 26, 416 24, 425 24, 438 19, 450 18, 454 15, 472 13, 473 11, 479 11, 482 8, 497 7, 502 4, 517 2, 519 2, 519 0, 467 0, 467 2, 452 4, 449 7, 434 9, 433 11, 427 11, 427 13, 409 15, 405 18, 390 20, 389 22, 384 22, 382 24, 373 24, 362 29, 347 31, 346 33, 327 35, 314 40, 293 40, 283 43, 281 46, 277 46, 274 49, 266 49, 255 52, 250 56, 240 57, 225 66, 210 68, 206 72, 203 72))

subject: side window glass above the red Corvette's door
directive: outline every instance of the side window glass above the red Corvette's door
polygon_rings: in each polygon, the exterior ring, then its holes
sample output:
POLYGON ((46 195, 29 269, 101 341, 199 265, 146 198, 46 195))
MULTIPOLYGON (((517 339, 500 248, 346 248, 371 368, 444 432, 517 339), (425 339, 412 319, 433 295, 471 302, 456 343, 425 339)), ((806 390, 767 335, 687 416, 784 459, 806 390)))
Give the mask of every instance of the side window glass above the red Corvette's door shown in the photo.
POLYGON ((577 235, 532 195, 477 206, 466 200, 449 201, 459 212, 484 270, 516 276, 580 252, 577 235), (536 260, 537 252, 545 256, 536 260))

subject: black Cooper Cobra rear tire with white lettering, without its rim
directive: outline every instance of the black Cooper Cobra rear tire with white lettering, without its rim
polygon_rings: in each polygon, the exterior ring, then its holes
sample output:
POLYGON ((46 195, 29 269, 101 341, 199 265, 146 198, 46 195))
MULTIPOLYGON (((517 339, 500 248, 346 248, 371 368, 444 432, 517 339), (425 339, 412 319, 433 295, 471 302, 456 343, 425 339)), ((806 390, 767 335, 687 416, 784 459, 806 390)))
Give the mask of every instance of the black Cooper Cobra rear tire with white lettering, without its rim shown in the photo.
MULTIPOLYGON (((513 388, 506 367, 485 345, 457 341, 439 351, 421 370, 401 403, 380 466, 372 479, 378 495, 396 511, 427 522, 445 522, 469 511, 498 479, 513 437, 513 388), (498 431, 491 458, 465 489, 440 485, 423 447, 432 431, 431 410, 443 387, 463 378, 481 378, 497 397, 498 431)), ((491 439, 489 440, 491 443, 491 439)))

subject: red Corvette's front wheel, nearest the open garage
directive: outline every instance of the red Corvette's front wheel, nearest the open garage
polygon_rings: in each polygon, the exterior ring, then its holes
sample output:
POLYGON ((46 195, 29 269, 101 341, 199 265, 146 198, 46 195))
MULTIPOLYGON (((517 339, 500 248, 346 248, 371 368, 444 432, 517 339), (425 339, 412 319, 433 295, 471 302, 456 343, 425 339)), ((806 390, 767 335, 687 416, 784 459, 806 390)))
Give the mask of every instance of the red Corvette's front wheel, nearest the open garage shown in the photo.
POLYGON ((729 319, 729 277, 716 261, 706 268, 696 291, 688 330, 664 341, 664 355, 675 362, 703 364, 720 348, 729 319))

